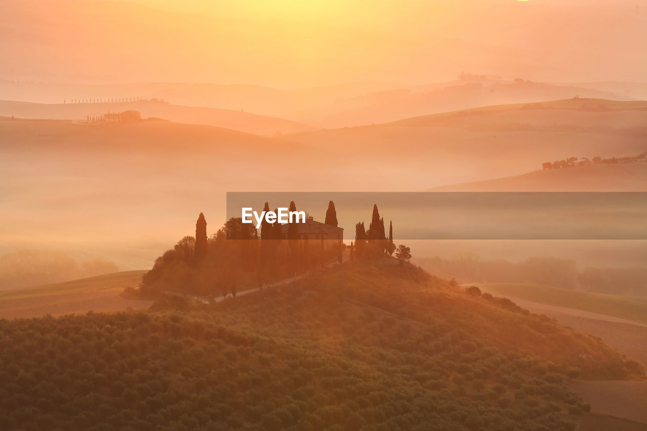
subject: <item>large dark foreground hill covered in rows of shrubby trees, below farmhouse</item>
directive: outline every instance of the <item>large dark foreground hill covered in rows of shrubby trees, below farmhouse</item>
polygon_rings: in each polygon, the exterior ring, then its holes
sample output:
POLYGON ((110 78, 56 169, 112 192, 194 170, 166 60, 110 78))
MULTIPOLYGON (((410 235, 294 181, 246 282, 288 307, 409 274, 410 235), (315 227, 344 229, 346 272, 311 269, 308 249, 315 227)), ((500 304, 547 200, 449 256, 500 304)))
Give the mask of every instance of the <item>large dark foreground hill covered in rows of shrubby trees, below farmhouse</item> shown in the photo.
POLYGON ((8 428, 573 430, 589 406, 565 386, 569 366, 638 371, 591 337, 394 260, 217 304, 175 297, 0 330, 8 428), (49 357, 32 360, 32 346, 49 357))

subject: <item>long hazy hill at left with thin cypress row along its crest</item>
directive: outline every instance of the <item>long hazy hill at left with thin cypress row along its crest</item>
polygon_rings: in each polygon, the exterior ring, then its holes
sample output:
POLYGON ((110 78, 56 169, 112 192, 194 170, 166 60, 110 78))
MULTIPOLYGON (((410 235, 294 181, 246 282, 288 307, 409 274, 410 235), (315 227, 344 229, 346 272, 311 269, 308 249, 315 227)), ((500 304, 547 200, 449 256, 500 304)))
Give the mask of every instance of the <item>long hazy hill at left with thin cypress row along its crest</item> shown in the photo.
POLYGON ((314 129, 306 124, 242 110, 170 105, 164 102, 35 104, 0 100, 0 115, 17 118, 85 121, 87 116, 103 116, 109 112, 129 110, 139 111, 142 118, 155 117, 179 123, 224 127, 256 135, 297 133, 314 129))

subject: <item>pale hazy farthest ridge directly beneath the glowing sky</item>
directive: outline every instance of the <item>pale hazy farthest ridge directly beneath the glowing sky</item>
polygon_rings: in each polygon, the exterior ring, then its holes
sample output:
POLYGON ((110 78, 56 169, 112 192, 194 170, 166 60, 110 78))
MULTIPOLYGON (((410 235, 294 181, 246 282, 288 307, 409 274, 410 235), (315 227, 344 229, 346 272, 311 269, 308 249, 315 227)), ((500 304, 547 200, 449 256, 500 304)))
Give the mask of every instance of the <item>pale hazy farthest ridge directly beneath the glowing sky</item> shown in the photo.
MULTIPOLYGON (((6 100, 60 104, 63 100, 69 103, 71 98, 105 99, 115 96, 157 98, 183 107, 212 107, 233 111, 244 109, 246 112, 286 118, 316 128, 362 126, 484 105, 547 102, 575 96, 613 100, 637 98, 584 86, 529 81, 520 83, 479 76, 426 85, 345 83, 285 90, 247 84, 162 82, 93 85, 14 83, 0 80, 0 98, 6 100)), ((129 105, 109 105, 107 108, 112 111, 130 109, 129 105)), ((187 115, 201 117, 210 112, 212 111, 197 110, 187 115)), ((87 115, 83 112, 81 114, 83 118, 87 115)), ((179 117, 170 119, 192 122, 179 117)), ((227 127, 203 120, 199 124, 227 127)))

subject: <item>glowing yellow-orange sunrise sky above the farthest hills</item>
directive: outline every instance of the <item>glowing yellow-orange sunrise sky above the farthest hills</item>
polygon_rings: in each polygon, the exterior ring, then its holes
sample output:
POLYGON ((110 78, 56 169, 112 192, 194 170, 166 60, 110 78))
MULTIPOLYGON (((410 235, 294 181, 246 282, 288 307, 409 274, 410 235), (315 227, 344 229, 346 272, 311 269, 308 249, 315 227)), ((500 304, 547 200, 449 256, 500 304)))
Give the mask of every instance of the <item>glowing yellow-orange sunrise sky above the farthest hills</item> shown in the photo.
POLYGON ((644 80, 645 0, 3 0, 0 78, 424 84, 644 80))

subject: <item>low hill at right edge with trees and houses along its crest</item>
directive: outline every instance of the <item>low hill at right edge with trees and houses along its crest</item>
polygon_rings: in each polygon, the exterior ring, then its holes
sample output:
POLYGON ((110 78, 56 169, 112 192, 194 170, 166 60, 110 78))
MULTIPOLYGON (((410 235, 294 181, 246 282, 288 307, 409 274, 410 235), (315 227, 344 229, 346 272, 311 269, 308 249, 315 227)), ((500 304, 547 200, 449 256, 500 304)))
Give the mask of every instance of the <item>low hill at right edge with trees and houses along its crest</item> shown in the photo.
POLYGON ((647 163, 589 164, 451 184, 432 192, 647 192, 647 163))

